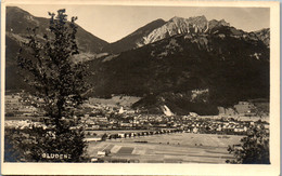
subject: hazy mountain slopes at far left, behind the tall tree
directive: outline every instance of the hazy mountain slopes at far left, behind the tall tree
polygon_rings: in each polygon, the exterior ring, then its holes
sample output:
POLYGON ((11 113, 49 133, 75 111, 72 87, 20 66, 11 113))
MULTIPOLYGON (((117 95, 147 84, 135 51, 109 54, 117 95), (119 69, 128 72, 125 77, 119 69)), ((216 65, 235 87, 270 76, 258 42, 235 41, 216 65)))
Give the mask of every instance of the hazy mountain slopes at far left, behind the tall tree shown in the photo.
MULTIPOLYGON (((49 33, 49 19, 43 17, 35 17, 28 12, 16 8, 7 6, 7 26, 5 26, 5 73, 7 89, 25 87, 22 78, 16 73, 16 53, 20 50, 21 42, 27 41, 27 28, 38 27, 38 38, 42 38, 43 33, 49 33), (18 81, 20 80, 20 81, 18 81)), ((80 51, 77 59, 88 60, 95 58, 102 48, 106 44, 102 39, 99 39, 78 26, 77 43, 80 51)))

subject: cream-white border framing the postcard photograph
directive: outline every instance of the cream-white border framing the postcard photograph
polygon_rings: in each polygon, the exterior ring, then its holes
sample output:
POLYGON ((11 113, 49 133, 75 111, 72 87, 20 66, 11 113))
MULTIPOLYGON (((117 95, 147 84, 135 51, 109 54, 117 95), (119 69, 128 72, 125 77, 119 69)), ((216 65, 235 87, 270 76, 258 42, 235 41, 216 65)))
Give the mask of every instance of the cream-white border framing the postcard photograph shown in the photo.
POLYGON ((279 175, 280 174, 280 8, 269 1, 141 1, 141 0, 4 0, 1 5, 1 171, 3 175, 279 175), (5 5, 107 4, 162 6, 270 8, 270 165, 231 164, 107 164, 107 163, 3 163, 5 5))

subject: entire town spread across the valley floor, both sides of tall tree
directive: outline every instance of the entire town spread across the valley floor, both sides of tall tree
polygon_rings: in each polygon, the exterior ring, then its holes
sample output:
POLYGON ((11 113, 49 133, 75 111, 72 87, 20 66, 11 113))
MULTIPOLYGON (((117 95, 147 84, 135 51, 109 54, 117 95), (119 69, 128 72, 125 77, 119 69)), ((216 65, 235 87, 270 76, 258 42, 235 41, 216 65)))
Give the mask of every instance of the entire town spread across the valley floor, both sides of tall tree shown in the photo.
MULTIPOLYGON (((10 93, 7 95, 7 126, 28 126, 28 124, 31 123, 31 120, 40 123, 40 121, 44 119, 44 116, 39 108, 36 108, 38 101, 40 100, 37 99, 36 101, 30 95, 27 95, 24 92, 10 93)), ((164 108, 164 114, 148 114, 139 110, 133 110, 130 107, 124 108, 120 105, 107 106, 102 104, 85 104, 82 108, 76 112, 74 118, 81 120, 80 125, 84 126, 87 136, 94 134, 91 133, 93 131, 118 130, 152 130, 154 133, 158 133, 158 131, 162 130, 179 130, 187 133, 246 135, 248 128, 258 122, 264 123, 266 128, 269 130, 268 118, 257 119, 251 116, 254 113, 249 110, 249 107, 252 107, 251 104, 241 101, 236 107, 240 107, 241 111, 248 116, 230 116, 232 114, 230 109, 225 110, 229 114, 223 113, 219 116, 203 117, 190 112, 187 116, 176 116, 170 112, 166 106, 164 108), (259 121, 256 122, 254 119, 259 121)), ((149 134, 152 133, 153 132, 149 134)), ((131 133, 125 133, 119 135, 119 137, 126 137, 129 135, 131 135, 131 133)), ((140 133, 132 135, 145 134, 140 133)))

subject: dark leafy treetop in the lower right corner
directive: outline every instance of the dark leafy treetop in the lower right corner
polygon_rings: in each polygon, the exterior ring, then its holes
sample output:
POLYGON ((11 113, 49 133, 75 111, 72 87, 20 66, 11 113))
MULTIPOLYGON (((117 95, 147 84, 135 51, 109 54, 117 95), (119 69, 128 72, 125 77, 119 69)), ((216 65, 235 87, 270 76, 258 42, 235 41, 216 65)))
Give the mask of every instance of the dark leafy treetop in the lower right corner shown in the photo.
POLYGON ((251 127, 246 137, 240 145, 229 146, 228 151, 233 153, 235 160, 227 160, 233 164, 270 164, 269 161, 269 134, 264 124, 258 122, 251 127))

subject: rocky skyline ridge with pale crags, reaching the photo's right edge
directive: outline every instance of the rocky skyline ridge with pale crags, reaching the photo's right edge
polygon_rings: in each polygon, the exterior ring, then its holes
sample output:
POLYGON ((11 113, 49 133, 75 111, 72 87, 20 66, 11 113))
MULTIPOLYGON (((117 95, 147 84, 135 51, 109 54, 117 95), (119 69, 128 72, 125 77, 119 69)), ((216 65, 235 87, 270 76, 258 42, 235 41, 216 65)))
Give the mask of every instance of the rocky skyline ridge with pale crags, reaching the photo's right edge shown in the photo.
POLYGON ((221 38, 225 38, 226 36, 236 36, 238 38, 262 40, 269 45, 269 32, 267 30, 248 33, 232 27, 225 19, 208 21, 206 16, 202 15, 189 18, 174 16, 167 22, 158 18, 137 29, 134 32, 117 42, 110 43, 104 48, 104 51, 118 54, 181 35, 219 35, 221 38))

